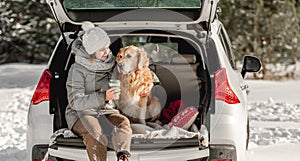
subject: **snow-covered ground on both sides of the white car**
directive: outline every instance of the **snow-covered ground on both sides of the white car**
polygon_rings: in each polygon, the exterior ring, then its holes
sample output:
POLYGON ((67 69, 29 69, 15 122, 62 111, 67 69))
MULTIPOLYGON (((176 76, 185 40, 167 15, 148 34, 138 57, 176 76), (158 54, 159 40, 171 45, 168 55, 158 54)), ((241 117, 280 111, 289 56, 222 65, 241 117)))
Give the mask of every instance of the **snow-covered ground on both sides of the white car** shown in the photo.
MULTIPOLYGON (((24 161, 28 105, 45 66, 0 66, 1 161, 24 161)), ((300 81, 246 83, 250 87, 248 161, 299 160, 300 81)))

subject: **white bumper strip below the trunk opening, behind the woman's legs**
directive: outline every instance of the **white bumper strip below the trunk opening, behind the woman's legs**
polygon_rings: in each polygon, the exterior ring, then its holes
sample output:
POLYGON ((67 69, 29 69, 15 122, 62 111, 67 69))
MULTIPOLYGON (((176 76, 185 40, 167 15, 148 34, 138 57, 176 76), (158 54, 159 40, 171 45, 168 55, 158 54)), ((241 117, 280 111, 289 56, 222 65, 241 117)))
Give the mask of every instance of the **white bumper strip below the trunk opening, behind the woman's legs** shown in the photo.
MULTIPOLYGON (((58 147, 48 149, 49 155, 69 160, 88 161, 87 153, 82 148, 58 147)), ((209 150, 199 150, 197 147, 175 148, 163 150, 131 151, 130 161, 187 161, 208 157, 209 150)), ((115 152, 108 151, 107 160, 116 160, 115 152)))

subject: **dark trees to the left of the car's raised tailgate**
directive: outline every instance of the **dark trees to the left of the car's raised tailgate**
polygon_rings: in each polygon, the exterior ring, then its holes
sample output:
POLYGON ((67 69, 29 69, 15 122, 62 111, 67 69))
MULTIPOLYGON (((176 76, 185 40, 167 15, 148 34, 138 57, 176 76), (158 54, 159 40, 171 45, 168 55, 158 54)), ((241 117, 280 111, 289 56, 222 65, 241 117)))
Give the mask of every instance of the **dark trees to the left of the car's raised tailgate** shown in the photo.
POLYGON ((44 0, 1 0, 0 28, 0 64, 43 62, 59 36, 44 0))

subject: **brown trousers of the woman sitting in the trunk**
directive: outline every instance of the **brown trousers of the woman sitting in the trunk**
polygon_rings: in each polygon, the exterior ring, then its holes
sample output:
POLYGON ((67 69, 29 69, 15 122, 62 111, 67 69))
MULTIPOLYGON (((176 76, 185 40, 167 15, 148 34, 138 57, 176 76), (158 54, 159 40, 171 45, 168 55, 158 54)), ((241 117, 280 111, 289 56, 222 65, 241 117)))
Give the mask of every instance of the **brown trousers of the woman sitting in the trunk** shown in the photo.
POLYGON ((121 114, 86 115, 74 124, 72 130, 83 138, 90 161, 106 161, 107 135, 111 136, 113 147, 110 148, 116 153, 130 152, 132 130, 128 118, 121 114))

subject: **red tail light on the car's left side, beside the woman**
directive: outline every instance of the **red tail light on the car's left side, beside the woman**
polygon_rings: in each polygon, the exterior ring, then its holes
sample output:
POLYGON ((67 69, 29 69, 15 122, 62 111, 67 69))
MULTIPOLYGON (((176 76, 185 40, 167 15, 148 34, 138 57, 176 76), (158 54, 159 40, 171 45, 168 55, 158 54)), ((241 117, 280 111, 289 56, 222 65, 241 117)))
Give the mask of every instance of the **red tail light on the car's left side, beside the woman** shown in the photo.
POLYGON ((31 99, 31 103, 36 105, 43 101, 49 100, 49 90, 50 90, 50 80, 51 80, 51 73, 49 70, 44 70, 40 81, 34 91, 34 94, 31 99))

